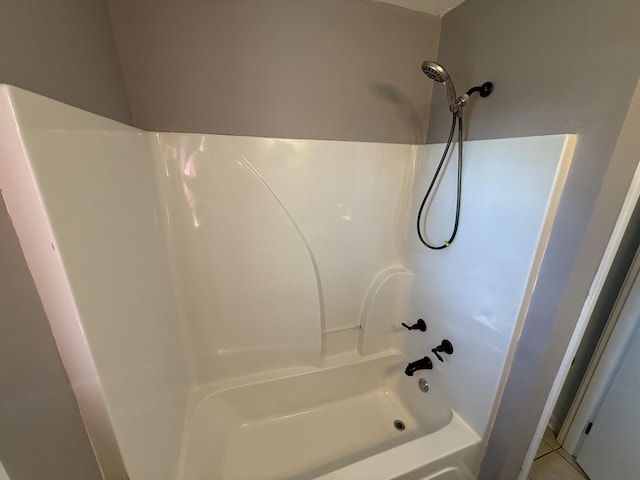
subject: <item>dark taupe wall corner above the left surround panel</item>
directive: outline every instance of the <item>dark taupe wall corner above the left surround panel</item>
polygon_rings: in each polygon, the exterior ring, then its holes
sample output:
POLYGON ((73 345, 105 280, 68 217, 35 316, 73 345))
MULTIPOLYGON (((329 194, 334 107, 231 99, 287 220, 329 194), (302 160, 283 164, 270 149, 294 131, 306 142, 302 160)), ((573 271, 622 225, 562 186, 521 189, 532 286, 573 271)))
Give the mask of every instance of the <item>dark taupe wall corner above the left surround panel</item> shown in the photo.
POLYGON ((106 0, 0 0, 0 83, 131 123, 106 0))

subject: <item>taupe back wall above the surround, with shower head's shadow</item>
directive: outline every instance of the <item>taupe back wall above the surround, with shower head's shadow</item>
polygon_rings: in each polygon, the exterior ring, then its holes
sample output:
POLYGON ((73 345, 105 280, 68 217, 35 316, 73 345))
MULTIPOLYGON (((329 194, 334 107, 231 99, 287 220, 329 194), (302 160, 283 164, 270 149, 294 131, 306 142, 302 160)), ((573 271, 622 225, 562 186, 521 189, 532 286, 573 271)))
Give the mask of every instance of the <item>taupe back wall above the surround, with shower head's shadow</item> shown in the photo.
POLYGON ((135 124, 423 143, 440 18, 367 0, 109 0, 135 124))

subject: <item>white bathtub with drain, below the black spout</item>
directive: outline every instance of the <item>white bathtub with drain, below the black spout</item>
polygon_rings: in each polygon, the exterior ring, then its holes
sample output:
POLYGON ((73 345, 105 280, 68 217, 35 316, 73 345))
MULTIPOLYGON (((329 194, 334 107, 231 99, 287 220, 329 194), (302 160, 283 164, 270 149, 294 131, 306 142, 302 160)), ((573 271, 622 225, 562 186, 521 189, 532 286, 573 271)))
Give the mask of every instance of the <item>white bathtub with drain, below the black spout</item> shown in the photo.
POLYGON ((437 391, 420 391, 431 372, 407 377, 406 364, 397 353, 333 357, 320 369, 198 389, 179 478, 472 478, 479 438, 437 391))

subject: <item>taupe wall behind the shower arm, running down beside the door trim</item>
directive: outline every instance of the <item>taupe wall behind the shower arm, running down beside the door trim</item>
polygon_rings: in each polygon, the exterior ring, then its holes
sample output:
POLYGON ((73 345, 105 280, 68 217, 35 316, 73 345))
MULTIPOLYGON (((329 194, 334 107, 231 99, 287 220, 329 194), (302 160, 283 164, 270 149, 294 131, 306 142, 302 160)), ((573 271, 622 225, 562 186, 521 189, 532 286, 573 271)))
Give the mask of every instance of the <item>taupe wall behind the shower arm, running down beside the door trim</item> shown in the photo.
MULTIPOLYGON (((578 134, 481 479, 516 478, 638 162, 612 153, 640 75, 639 21, 635 0, 467 0, 443 19, 438 59, 458 88, 495 84, 468 109, 469 138, 578 134)), ((447 132, 443 97, 430 141, 447 132)))

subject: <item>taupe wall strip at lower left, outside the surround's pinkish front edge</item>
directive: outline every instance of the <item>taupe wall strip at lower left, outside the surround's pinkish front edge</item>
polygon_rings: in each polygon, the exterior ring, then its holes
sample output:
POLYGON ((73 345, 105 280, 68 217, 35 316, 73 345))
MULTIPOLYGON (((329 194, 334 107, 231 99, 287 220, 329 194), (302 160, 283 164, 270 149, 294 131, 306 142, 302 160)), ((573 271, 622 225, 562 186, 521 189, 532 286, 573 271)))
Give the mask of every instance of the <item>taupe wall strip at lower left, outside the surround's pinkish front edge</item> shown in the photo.
POLYGON ((100 479, 49 322, 1 198, 0 245, 0 461, 11 480, 100 479))

